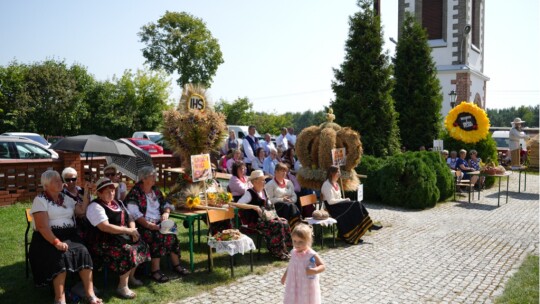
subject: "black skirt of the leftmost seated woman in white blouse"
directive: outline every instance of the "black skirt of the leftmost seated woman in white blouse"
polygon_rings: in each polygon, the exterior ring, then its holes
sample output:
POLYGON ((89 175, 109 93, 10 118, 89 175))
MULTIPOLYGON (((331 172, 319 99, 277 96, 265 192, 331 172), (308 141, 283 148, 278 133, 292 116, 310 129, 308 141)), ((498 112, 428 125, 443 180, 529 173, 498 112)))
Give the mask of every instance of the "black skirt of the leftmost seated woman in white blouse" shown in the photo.
POLYGON ((29 258, 36 286, 48 285, 58 274, 92 269, 92 257, 82 244, 75 228, 53 229, 54 235, 68 245, 66 252, 59 251, 41 233, 34 231, 29 258))

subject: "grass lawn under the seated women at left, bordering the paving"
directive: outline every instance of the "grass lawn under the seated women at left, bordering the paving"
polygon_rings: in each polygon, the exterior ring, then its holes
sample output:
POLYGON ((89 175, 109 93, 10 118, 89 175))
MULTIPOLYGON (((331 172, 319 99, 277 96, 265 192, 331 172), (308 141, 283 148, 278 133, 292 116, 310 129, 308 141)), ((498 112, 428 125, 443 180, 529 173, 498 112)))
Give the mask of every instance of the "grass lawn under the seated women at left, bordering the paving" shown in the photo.
MULTIPOLYGON (((32 280, 32 275, 25 277, 24 261, 24 232, 26 230, 26 220, 24 217, 25 208, 30 208, 31 204, 16 204, 0 208, 0 303, 52 303, 53 292, 51 288, 36 288, 32 280)), ((182 265, 188 267, 189 252, 187 229, 184 229, 181 222, 177 222, 179 227, 179 239, 182 248, 182 265)), ((328 229, 327 229, 328 230, 328 229)), ((229 256, 215 254, 214 271, 207 269, 207 246, 206 246, 206 225, 201 224, 201 245, 197 245, 195 240, 195 273, 183 279, 172 279, 165 284, 157 284, 144 274, 138 277, 143 280, 143 287, 134 288, 137 298, 129 303, 167 303, 174 300, 183 299, 196 295, 200 292, 212 289, 216 286, 233 282, 229 269, 229 256)), ((31 231, 30 231, 31 237, 31 231)), ((195 237, 196 238, 196 237, 195 237)), ((330 235, 325 240, 330 244, 330 235)), ((267 252, 264 241, 261 250, 261 258, 257 259, 256 252, 253 253, 254 274, 262 274, 275 267, 285 266, 286 263, 273 259, 267 252)), ((328 248, 328 247, 326 247, 328 248)), ((251 274, 249 267, 249 254, 244 256, 236 255, 234 272, 235 277, 251 274)), ((163 271, 172 278, 174 273, 170 270, 166 259, 162 260, 163 271)), ((76 282, 78 276, 68 275, 67 285, 70 287, 76 282)), ((100 290, 100 297, 106 303, 127 303, 127 301, 116 296, 115 290, 118 283, 118 276, 109 272, 107 288, 104 288, 104 275, 100 271, 94 271, 94 283, 100 290)))

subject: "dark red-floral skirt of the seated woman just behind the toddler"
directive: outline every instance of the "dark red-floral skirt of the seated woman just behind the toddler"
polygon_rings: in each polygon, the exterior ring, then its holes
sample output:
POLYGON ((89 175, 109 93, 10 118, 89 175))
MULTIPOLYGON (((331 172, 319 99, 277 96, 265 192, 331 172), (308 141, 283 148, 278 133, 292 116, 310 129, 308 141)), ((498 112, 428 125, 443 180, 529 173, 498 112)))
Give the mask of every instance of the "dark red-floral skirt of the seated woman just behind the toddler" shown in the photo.
POLYGON ((270 253, 281 258, 289 253, 292 247, 291 228, 284 218, 276 218, 270 221, 257 221, 256 229, 262 234, 266 241, 266 247, 270 253))

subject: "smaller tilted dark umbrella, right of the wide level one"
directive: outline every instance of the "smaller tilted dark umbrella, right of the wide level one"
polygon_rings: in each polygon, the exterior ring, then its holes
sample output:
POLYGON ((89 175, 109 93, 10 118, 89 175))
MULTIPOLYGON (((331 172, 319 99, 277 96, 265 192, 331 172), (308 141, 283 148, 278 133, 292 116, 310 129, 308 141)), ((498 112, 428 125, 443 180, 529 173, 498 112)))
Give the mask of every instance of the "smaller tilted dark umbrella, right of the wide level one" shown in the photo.
POLYGON ((107 164, 115 166, 118 171, 124 173, 127 177, 138 180, 139 169, 145 166, 152 167, 152 157, 148 152, 132 144, 129 140, 118 139, 117 142, 126 144, 135 154, 135 157, 112 155, 107 156, 107 164))

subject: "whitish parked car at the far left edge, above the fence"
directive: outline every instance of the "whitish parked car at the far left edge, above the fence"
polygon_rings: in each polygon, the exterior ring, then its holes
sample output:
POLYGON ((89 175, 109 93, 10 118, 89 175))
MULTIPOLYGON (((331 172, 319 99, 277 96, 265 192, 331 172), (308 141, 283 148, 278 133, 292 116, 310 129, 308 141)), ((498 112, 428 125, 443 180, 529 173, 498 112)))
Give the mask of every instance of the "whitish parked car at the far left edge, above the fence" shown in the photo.
POLYGON ((58 153, 26 137, 0 136, 0 159, 46 158, 57 159, 58 153))

